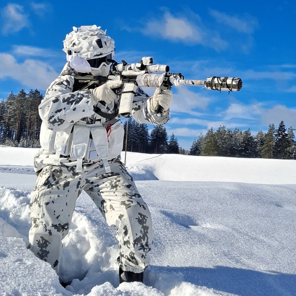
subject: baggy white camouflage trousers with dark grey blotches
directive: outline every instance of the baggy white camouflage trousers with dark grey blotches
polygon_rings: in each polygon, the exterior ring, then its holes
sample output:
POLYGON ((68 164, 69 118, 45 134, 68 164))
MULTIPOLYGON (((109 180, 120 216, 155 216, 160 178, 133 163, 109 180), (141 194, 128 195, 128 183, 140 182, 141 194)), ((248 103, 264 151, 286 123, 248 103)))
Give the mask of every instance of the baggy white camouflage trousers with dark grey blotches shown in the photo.
POLYGON ((117 227, 118 264, 125 271, 142 272, 149 264, 152 223, 149 209, 120 161, 74 167, 46 166, 31 196, 30 248, 58 273, 62 239, 67 235, 76 199, 84 190, 102 212, 109 226, 117 227))

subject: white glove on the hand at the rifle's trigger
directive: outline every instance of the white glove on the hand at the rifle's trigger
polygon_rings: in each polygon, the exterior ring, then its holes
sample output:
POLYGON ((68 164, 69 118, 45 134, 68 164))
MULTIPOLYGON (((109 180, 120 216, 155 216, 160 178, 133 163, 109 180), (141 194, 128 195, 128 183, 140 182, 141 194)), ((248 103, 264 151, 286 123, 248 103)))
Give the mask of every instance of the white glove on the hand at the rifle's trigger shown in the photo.
POLYGON ((104 101, 106 104, 110 104, 117 98, 112 88, 121 86, 119 82, 104 83, 96 88, 90 89, 92 94, 92 104, 95 106, 99 101, 104 101))

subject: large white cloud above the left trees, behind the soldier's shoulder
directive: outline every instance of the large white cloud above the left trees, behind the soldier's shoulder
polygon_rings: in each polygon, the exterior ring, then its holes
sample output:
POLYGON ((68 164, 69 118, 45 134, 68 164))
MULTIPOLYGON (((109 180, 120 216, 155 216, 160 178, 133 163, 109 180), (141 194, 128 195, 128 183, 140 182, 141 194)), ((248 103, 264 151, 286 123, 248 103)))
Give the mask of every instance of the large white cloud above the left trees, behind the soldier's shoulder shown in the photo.
POLYGON ((0 53, 0 79, 9 77, 29 88, 46 90, 58 73, 46 63, 38 60, 25 60, 18 63, 14 56, 0 53))

